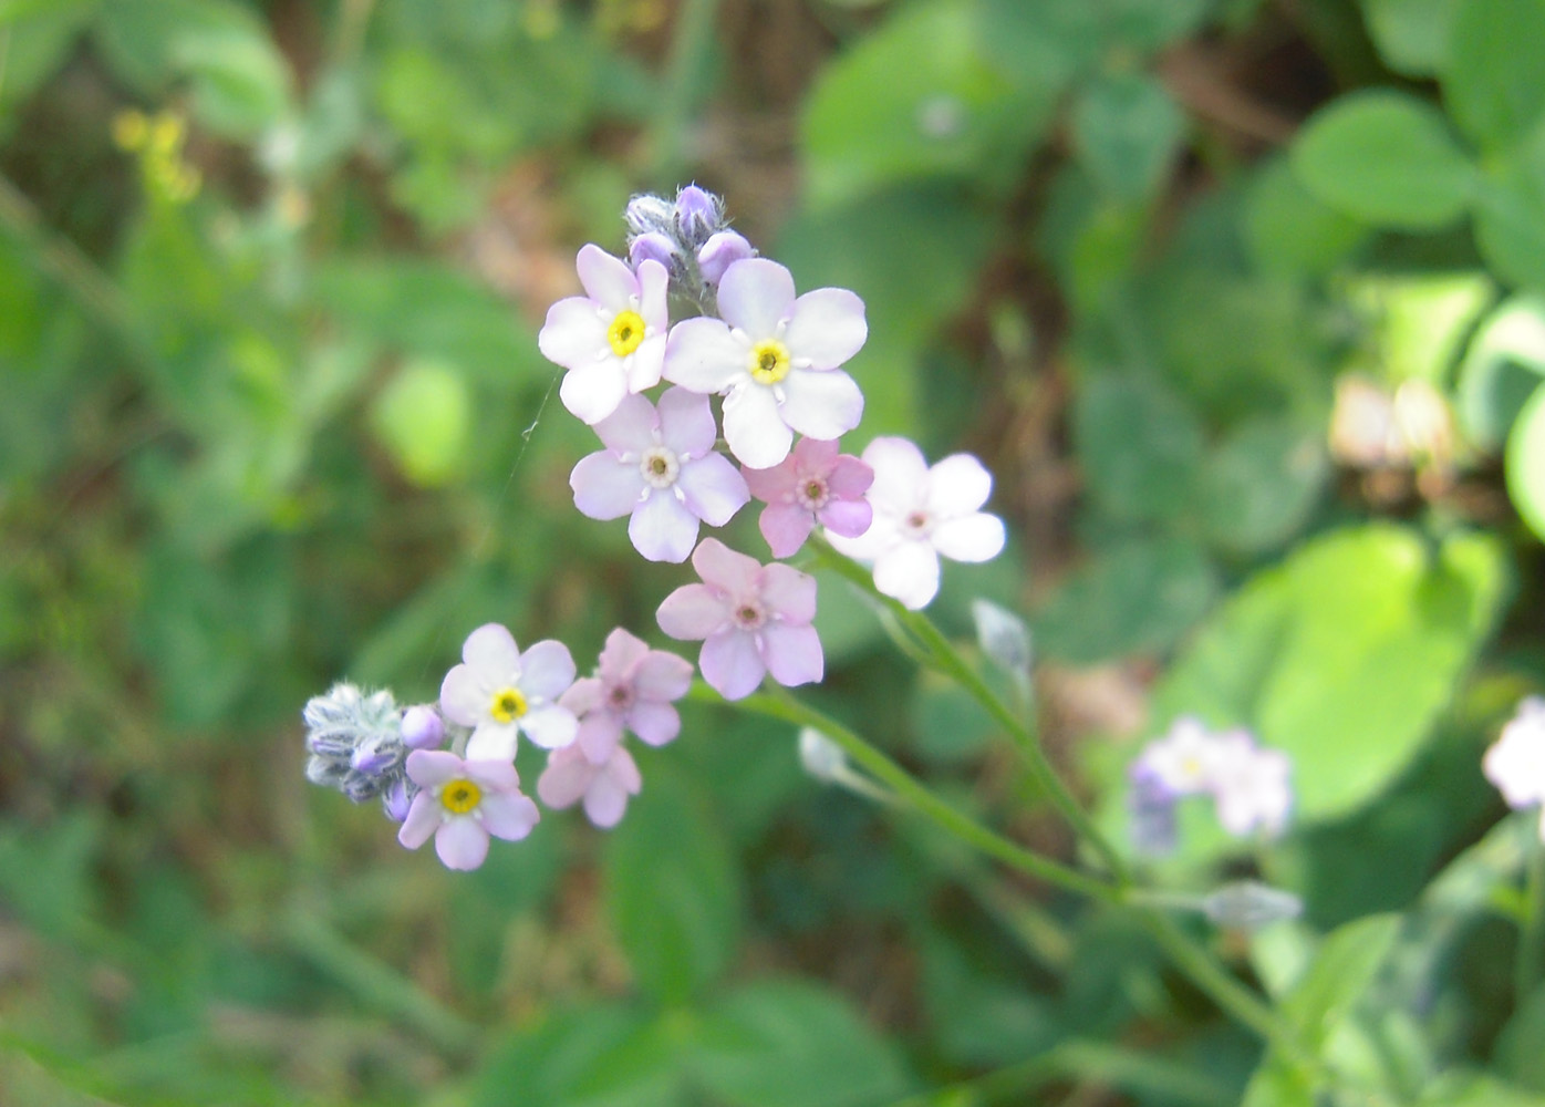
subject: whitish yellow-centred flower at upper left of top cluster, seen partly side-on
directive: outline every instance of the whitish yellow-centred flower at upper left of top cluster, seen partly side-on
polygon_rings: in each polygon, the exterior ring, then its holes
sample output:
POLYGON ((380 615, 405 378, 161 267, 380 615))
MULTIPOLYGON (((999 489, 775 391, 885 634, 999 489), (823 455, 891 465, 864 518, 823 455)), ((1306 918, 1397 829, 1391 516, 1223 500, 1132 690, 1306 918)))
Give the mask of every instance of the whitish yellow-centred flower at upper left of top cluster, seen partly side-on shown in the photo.
POLYGON ((629 393, 660 382, 669 274, 654 260, 641 261, 635 274, 595 244, 579 250, 576 267, 586 295, 555 303, 536 345, 569 370, 558 390, 564 407, 593 425, 629 393))

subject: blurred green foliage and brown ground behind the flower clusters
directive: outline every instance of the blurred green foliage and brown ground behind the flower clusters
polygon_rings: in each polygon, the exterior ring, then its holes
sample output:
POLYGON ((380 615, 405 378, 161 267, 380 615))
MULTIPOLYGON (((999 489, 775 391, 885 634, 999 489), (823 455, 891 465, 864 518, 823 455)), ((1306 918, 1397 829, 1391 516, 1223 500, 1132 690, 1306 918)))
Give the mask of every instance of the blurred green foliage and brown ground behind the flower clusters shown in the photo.
MULTIPOLYGON (((933 614, 1026 612, 1114 833, 1139 741, 1248 703, 1304 827, 1160 878, 1411 908, 1545 674, 1545 14, 1457 9, 0 2, 0 1102, 1238 1102, 1258 1045, 1129 923, 822 789, 788 727, 692 707, 615 832, 459 875, 306 785, 300 708, 431 699, 490 620, 582 671, 658 637, 683 571, 573 510, 536 331, 697 181, 867 301, 854 453, 997 475, 1010 549, 933 614)), ((1072 855, 834 580, 819 625, 814 699, 1072 855)), ((1415 1090, 1500 1048, 1471 908, 1415 1090)))

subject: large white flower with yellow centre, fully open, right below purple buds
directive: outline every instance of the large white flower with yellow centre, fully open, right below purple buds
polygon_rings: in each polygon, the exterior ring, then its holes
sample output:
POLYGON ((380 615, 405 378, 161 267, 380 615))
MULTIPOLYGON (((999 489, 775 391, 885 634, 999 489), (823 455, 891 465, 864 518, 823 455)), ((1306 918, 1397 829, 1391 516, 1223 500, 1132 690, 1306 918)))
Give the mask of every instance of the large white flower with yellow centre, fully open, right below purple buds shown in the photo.
POLYGON ((718 314, 671 329, 663 374, 694 393, 725 394, 725 441, 743 465, 779 464, 794 431, 836 439, 857 427, 864 394, 837 368, 868 337, 853 292, 796 298, 788 269, 748 258, 725 271, 718 314))

